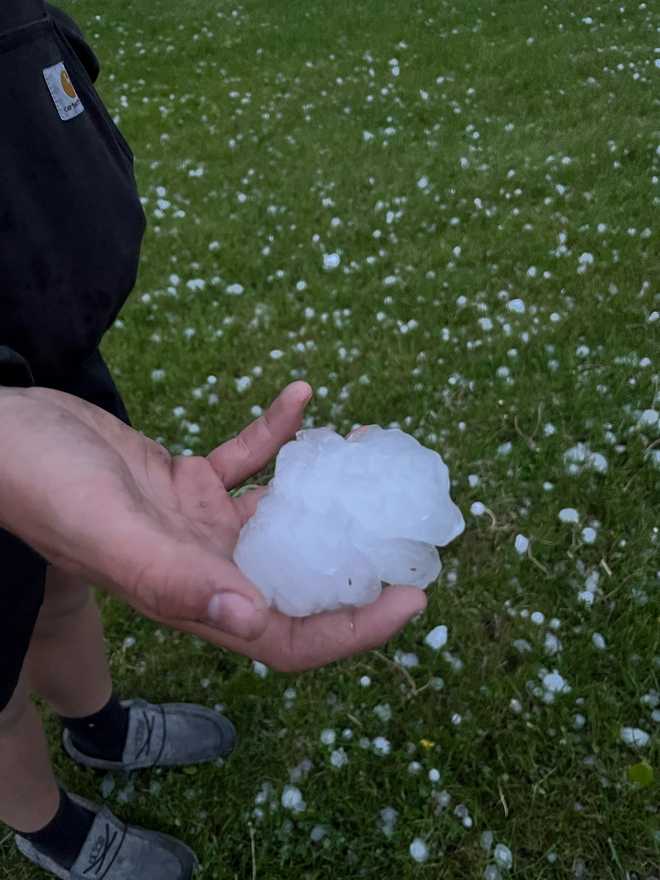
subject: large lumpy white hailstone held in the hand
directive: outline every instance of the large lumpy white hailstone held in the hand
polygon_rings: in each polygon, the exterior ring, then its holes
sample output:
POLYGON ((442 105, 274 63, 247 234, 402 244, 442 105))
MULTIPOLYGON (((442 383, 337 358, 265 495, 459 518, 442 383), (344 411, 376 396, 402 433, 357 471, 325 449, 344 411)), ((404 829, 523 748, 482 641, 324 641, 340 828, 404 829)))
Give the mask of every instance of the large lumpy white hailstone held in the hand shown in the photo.
POLYGON ((315 428, 280 450, 234 560, 271 605, 304 617, 373 602, 383 582, 427 587, 436 546, 464 527, 437 452, 395 429, 315 428))

